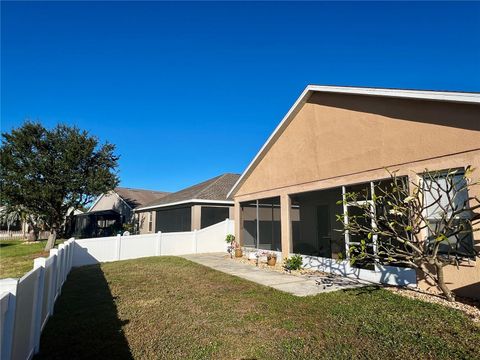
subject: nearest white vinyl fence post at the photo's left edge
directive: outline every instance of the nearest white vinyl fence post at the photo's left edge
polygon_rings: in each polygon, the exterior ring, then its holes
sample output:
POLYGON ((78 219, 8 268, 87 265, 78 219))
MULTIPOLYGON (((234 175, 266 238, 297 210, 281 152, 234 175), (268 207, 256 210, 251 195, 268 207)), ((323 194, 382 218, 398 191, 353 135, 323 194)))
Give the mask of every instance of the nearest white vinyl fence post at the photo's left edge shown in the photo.
POLYGON ((15 308, 17 304, 17 285, 18 279, 2 279, 0 280, 0 293, 7 292, 8 302, 6 309, 0 309, 3 320, 3 329, 0 329, 0 358, 1 360, 10 360, 12 357, 13 332, 15 331, 15 308), (5 315, 3 315, 5 314, 5 315))

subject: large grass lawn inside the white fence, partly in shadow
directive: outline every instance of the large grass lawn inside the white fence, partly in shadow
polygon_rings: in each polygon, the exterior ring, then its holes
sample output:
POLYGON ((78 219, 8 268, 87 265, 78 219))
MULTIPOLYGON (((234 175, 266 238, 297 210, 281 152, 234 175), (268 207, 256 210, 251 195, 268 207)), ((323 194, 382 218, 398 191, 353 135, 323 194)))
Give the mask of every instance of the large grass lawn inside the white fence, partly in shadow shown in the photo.
POLYGON ((176 257, 72 270, 38 359, 478 359, 461 312, 375 287, 299 298, 176 257))

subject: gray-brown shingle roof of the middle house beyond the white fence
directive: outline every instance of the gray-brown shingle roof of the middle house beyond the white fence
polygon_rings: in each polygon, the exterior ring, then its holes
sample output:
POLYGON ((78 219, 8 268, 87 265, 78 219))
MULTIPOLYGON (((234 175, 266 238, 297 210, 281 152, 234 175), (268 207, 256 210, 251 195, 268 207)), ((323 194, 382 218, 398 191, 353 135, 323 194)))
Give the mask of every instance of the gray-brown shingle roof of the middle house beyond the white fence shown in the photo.
POLYGON ((240 174, 223 174, 213 179, 204 181, 200 184, 190 186, 186 189, 171 193, 160 199, 151 201, 140 207, 149 207, 155 205, 165 205, 180 201, 188 201, 193 199, 200 200, 231 200, 227 199, 227 194, 233 187, 240 174))

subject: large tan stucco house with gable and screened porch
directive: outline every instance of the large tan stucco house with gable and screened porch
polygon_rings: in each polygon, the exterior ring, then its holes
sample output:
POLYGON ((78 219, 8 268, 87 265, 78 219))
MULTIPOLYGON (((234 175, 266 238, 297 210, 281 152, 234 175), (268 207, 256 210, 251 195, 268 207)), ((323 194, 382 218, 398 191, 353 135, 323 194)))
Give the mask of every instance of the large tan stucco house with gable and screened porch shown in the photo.
MULTIPOLYGON (((336 221, 348 204, 337 202, 388 178, 385 168, 418 183, 425 169, 468 165, 480 169, 480 94, 308 86, 229 192, 236 236, 245 247, 306 255, 323 271, 428 287, 412 269, 342 260, 353 240, 336 221)), ((480 232, 469 241, 478 248, 480 232)), ((457 294, 480 297, 478 258, 445 275, 457 294)))

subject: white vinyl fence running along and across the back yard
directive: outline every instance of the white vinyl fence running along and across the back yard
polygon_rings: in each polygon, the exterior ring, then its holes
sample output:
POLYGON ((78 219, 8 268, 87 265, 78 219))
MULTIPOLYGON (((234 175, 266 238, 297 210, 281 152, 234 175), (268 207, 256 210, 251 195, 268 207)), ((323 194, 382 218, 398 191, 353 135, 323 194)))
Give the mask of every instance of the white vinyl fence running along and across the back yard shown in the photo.
POLYGON ((40 334, 74 266, 147 256, 223 252, 233 220, 178 233, 70 239, 34 260, 21 279, 0 280, 0 359, 27 360, 38 352, 40 334))

